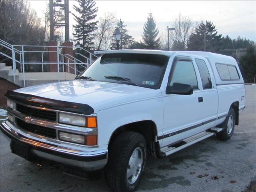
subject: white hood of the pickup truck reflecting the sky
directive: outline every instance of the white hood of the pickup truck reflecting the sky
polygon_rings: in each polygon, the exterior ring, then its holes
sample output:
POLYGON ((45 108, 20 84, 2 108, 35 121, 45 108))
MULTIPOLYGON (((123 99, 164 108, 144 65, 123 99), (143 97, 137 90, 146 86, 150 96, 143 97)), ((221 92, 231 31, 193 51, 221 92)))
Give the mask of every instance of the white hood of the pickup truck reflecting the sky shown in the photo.
POLYGON ((160 90, 89 80, 73 80, 30 86, 15 90, 15 92, 61 101, 88 104, 94 108, 94 111, 162 95, 160 90))

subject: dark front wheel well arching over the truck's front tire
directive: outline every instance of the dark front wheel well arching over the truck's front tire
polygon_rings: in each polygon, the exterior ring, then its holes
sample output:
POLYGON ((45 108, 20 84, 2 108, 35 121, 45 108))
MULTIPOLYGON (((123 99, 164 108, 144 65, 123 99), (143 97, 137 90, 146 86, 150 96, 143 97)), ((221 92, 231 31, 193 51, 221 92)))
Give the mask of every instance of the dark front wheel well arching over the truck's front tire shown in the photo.
POLYGON ((111 146, 114 140, 122 132, 125 132, 125 131, 133 131, 133 132, 142 134, 146 139, 148 149, 150 149, 150 142, 154 142, 155 136, 157 135, 156 124, 151 120, 144 120, 144 121, 129 123, 117 128, 114 131, 114 133, 110 138, 108 148, 111 146))

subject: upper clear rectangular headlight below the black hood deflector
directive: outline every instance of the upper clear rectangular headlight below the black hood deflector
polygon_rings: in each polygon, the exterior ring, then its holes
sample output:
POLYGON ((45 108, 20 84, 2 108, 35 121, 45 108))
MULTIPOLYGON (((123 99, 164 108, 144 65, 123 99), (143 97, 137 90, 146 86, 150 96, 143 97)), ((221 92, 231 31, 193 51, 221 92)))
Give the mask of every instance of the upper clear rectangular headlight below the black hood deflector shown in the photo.
POLYGON ((64 124, 76 125, 85 127, 86 117, 78 115, 70 115, 65 113, 59 113, 59 122, 64 124))

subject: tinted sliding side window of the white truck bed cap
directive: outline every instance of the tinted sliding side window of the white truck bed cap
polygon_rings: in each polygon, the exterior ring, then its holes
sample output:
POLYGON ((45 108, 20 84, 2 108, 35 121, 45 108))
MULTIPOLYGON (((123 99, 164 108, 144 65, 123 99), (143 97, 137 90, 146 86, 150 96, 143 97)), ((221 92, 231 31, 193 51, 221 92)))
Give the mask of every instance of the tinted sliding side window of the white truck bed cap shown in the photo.
POLYGON ((236 66, 216 63, 216 68, 218 70, 221 80, 239 80, 240 79, 236 66))

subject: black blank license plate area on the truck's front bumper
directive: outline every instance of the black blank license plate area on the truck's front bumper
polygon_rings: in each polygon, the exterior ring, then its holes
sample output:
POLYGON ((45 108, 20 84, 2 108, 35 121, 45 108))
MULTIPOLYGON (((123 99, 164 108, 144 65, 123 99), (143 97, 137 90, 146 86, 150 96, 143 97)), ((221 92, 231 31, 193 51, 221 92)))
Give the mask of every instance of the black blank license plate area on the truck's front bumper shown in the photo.
POLYGON ((10 146, 11 146, 12 153, 14 153, 26 160, 32 160, 30 146, 28 146, 22 142, 13 140, 13 139, 11 141, 10 146))

